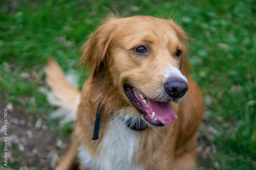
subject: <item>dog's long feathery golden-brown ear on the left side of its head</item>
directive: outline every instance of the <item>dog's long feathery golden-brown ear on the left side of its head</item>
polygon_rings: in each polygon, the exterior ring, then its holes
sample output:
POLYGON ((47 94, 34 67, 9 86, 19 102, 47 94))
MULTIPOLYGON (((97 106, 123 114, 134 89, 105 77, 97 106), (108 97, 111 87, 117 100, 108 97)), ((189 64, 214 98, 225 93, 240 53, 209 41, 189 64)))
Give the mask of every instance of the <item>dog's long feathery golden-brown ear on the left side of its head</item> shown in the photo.
POLYGON ((111 43, 113 32, 116 28, 118 18, 107 19, 83 45, 83 54, 79 64, 88 65, 93 77, 105 72, 108 66, 108 48, 111 43))

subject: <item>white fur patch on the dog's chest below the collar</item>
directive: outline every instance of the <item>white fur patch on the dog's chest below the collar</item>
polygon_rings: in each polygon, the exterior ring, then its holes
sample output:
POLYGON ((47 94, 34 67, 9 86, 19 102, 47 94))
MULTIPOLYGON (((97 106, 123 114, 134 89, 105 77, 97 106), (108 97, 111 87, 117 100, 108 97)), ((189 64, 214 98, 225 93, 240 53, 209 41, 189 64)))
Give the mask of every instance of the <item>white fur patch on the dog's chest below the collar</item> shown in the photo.
POLYGON ((132 163, 137 150, 137 132, 128 128, 122 120, 101 126, 106 128, 98 148, 100 154, 92 158, 90 149, 80 152, 82 154, 79 154, 79 157, 83 165, 95 170, 143 170, 142 166, 132 163))

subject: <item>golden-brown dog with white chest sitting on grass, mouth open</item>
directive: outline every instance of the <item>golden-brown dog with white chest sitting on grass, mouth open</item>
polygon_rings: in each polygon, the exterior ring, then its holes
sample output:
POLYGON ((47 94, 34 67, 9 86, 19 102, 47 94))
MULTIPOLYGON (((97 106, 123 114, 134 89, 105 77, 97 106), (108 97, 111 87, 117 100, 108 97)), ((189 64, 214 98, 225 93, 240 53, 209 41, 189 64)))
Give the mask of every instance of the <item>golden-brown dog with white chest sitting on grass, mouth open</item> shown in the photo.
POLYGON ((49 59, 59 106, 77 112, 72 144, 56 169, 191 169, 204 98, 189 75, 189 38, 172 20, 109 17, 83 46, 91 68, 81 92, 49 59), (193 129, 193 130, 191 130, 193 129))

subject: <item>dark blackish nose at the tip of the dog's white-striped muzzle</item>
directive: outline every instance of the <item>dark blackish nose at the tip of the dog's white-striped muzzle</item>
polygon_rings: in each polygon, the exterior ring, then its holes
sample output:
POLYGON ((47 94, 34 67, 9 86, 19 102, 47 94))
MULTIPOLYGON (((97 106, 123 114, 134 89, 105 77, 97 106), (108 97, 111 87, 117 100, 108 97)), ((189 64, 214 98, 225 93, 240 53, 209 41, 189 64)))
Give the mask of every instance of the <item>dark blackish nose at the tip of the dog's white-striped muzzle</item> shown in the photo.
POLYGON ((165 83, 165 91, 174 99, 181 98, 188 91, 188 84, 184 81, 169 81, 165 83))

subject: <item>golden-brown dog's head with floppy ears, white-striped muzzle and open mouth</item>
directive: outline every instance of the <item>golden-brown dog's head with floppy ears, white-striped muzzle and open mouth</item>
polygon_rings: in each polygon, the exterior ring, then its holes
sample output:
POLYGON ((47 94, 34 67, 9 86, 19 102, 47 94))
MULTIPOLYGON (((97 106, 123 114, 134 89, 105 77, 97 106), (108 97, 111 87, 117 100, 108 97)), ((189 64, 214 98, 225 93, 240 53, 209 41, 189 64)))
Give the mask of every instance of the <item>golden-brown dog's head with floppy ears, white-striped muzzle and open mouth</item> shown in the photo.
POLYGON ((81 60, 91 67, 93 79, 111 81, 126 107, 163 126, 177 119, 170 101, 180 102, 188 91, 186 40, 170 20, 110 18, 86 42, 81 60))

